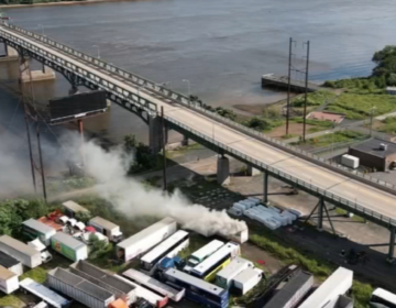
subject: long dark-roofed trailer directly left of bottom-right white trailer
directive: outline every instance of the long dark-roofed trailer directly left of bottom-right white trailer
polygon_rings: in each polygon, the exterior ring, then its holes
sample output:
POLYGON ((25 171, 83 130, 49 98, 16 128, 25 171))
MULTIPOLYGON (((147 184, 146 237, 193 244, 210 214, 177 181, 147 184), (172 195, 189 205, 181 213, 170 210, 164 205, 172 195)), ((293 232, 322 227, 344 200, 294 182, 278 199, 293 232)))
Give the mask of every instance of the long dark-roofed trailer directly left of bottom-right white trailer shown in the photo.
MULTIPOLYGON (((263 308, 293 308, 301 300, 314 285, 314 276, 300 271, 279 289, 263 308)), ((310 306, 316 308, 317 306, 310 306)))

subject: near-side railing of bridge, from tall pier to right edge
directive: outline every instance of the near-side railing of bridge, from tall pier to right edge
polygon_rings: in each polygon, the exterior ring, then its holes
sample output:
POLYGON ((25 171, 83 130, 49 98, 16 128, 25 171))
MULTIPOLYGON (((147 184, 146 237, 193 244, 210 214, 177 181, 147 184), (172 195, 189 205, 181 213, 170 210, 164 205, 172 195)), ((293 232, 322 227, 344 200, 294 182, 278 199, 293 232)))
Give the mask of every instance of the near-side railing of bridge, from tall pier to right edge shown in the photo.
MULTIPOLYGON (((361 200, 359 201, 358 204, 358 200, 349 200, 349 199, 345 199, 345 198, 342 198, 340 196, 337 196, 330 191, 328 191, 327 189, 323 189, 317 185, 312 185, 308 182, 305 182, 305 180, 301 180, 288 173, 285 173, 285 172, 282 172, 268 164, 265 164, 256 158, 253 158, 252 156, 249 156, 238 150, 234 150, 233 147, 230 147, 228 146, 227 144, 224 143, 221 143, 217 140, 215 140, 212 136, 208 136, 206 134, 202 134, 201 132, 197 131, 197 130, 194 130, 191 129, 190 127, 187 127, 185 125, 184 123, 170 118, 170 117, 167 117, 165 116, 166 120, 174 123, 175 125, 178 125, 182 129, 184 129, 185 131, 188 131, 190 132, 191 134, 194 135, 197 135, 198 138, 218 146, 219 148, 222 148, 226 152, 230 153, 232 156, 234 157, 241 157, 242 160, 244 160, 245 162, 250 162, 254 167, 261 169, 261 170, 266 170, 271 174, 275 174, 277 175, 278 177, 280 178, 285 178, 285 179, 288 179, 289 182, 292 183, 295 183, 295 184, 298 184, 299 186, 302 186, 305 187, 307 190, 310 190, 310 191, 316 191, 318 195, 321 195, 323 197, 327 197, 328 199, 331 199, 338 204, 341 204, 348 208, 351 208, 351 209, 354 209, 355 212, 358 213, 361 213, 361 216, 363 217, 373 217, 375 218, 376 220, 383 222, 383 224, 385 226, 396 226, 396 220, 395 219, 392 219, 389 217, 386 217, 386 216, 383 216, 376 211, 373 211, 371 209, 369 209, 367 207, 364 207, 362 206, 362 204, 364 205, 364 202, 362 202, 361 200)), ((367 205, 370 206, 370 205, 367 205)))

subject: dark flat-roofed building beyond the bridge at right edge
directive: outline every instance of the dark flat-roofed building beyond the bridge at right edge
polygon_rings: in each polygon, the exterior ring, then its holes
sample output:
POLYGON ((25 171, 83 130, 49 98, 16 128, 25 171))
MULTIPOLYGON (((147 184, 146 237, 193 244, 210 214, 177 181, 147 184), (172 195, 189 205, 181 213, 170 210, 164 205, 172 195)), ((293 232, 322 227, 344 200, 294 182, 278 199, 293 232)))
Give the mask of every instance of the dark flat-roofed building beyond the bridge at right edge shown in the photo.
POLYGON ((377 172, 396 167, 396 143, 372 138, 350 146, 348 154, 359 157, 362 166, 377 172))

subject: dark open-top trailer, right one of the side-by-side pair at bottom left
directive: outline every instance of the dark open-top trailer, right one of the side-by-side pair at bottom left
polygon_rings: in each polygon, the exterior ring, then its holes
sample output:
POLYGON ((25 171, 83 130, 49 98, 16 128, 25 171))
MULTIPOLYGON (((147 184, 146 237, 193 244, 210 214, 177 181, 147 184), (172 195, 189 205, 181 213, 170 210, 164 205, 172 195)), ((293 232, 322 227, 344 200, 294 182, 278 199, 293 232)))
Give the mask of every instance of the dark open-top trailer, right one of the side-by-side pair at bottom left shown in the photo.
POLYGON ((113 294, 116 298, 122 298, 128 305, 131 305, 136 300, 135 288, 133 286, 86 261, 73 263, 69 271, 73 274, 107 289, 113 294))

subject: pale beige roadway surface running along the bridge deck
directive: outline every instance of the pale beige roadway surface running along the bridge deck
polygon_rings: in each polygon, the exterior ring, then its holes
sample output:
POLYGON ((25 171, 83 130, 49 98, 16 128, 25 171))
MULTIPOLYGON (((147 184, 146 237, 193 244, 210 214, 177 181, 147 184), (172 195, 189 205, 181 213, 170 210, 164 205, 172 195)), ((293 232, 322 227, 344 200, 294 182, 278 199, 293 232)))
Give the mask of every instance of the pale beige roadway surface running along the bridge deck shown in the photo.
POLYGON ((167 117, 199 131, 208 138, 213 138, 216 141, 227 144, 228 146, 240 151, 252 158, 272 165, 282 172, 310 183, 319 188, 327 189, 328 191, 352 202, 358 202, 359 205, 374 210, 380 215, 396 219, 396 197, 391 194, 270 146, 268 144, 252 139, 242 132, 223 124, 219 124, 215 120, 201 116, 186 107, 183 107, 182 105, 170 102, 170 100, 165 99, 157 94, 151 92, 147 89, 141 89, 139 91, 139 86, 133 84, 131 80, 127 80, 119 75, 111 75, 94 64, 84 62, 82 59, 68 54, 64 54, 56 48, 52 48, 38 41, 32 40, 31 37, 21 35, 8 28, 2 26, 1 29, 4 32, 9 32, 10 34, 25 40, 37 47, 75 64, 77 67, 81 67, 92 74, 97 74, 105 80, 109 80, 125 90, 136 95, 140 92, 142 98, 156 103, 158 108, 163 106, 167 117))

